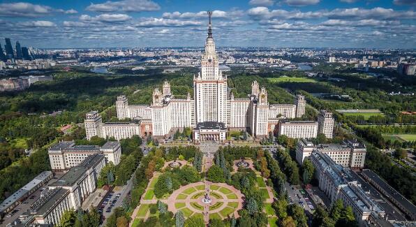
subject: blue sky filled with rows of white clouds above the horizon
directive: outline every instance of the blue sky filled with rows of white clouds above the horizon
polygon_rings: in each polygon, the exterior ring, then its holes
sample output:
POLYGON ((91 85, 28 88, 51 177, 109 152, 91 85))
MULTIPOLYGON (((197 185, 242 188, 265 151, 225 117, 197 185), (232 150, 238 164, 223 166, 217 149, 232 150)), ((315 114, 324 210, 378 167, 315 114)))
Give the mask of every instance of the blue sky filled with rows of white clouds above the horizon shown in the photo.
POLYGON ((4 38, 34 47, 416 47, 416 0, 0 1, 4 38))

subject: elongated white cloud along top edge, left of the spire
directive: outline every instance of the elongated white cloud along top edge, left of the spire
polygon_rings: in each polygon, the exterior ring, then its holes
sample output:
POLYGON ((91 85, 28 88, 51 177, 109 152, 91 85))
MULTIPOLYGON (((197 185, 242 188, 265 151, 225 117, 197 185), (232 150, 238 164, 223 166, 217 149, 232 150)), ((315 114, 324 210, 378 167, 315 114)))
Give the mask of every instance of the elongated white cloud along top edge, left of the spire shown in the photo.
POLYGON ((106 1, 105 3, 91 3, 86 10, 94 12, 141 12, 156 11, 161 6, 150 0, 122 0, 122 1, 106 1))

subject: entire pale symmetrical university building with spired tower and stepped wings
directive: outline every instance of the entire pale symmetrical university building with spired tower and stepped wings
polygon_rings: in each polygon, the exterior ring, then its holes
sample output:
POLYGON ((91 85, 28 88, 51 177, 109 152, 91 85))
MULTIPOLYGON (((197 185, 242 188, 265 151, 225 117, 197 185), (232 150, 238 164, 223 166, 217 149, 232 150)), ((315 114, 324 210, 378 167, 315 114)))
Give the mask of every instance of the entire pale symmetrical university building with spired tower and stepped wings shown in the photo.
MULTIPOLYGON (((87 138, 100 136, 114 137, 117 140, 133 135, 166 137, 172 130, 191 127, 193 141, 204 140, 223 142, 229 130, 243 130, 259 138, 281 126, 282 131, 290 131, 297 138, 312 138, 319 133, 318 123, 288 123, 281 119, 302 117, 305 112, 304 96, 297 95, 294 104, 269 105, 265 87, 257 81, 251 84, 251 94, 247 98, 235 98, 227 86, 227 76, 218 67, 218 55, 215 50, 209 13, 208 37, 205 52, 201 57, 201 71, 193 78, 193 97, 175 98, 170 84, 165 81, 162 91, 154 89, 150 105, 129 105, 126 96, 118 96, 116 101, 119 119, 138 119, 139 123, 107 122, 103 123, 96 111, 89 112, 85 119, 87 138), (279 120, 281 124, 278 125, 279 120)), ((323 120, 331 123, 332 115, 323 120)), ((322 122, 322 125, 323 122, 322 122)), ((327 137, 332 137, 332 124, 327 137), (329 135, 330 134, 330 135, 329 135)), ((322 129, 323 133, 323 129, 322 129)))

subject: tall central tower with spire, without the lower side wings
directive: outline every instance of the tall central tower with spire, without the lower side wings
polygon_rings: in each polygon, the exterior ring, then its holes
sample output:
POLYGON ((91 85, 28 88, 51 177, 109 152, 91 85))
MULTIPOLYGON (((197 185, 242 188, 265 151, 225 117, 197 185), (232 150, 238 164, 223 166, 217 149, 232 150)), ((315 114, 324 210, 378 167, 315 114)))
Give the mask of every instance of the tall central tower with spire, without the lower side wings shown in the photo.
POLYGON ((208 37, 201 57, 201 71, 193 78, 196 122, 222 122, 227 126, 227 78, 218 68, 211 15, 208 11, 208 37))

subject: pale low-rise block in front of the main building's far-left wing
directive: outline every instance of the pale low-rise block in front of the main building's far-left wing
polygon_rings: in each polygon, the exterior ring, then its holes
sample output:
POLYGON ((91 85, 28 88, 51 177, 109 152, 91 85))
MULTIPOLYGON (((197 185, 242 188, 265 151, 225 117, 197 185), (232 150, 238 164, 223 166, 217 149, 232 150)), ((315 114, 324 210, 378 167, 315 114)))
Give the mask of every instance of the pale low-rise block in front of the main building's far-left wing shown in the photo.
POLYGON ((114 165, 120 163, 120 142, 105 142, 102 147, 96 145, 75 145, 73 141, 61 141, 50 147, 49 160, 52 170, 68 170, 79 165, 92 154, 104 154, 105 162, 114 165))

